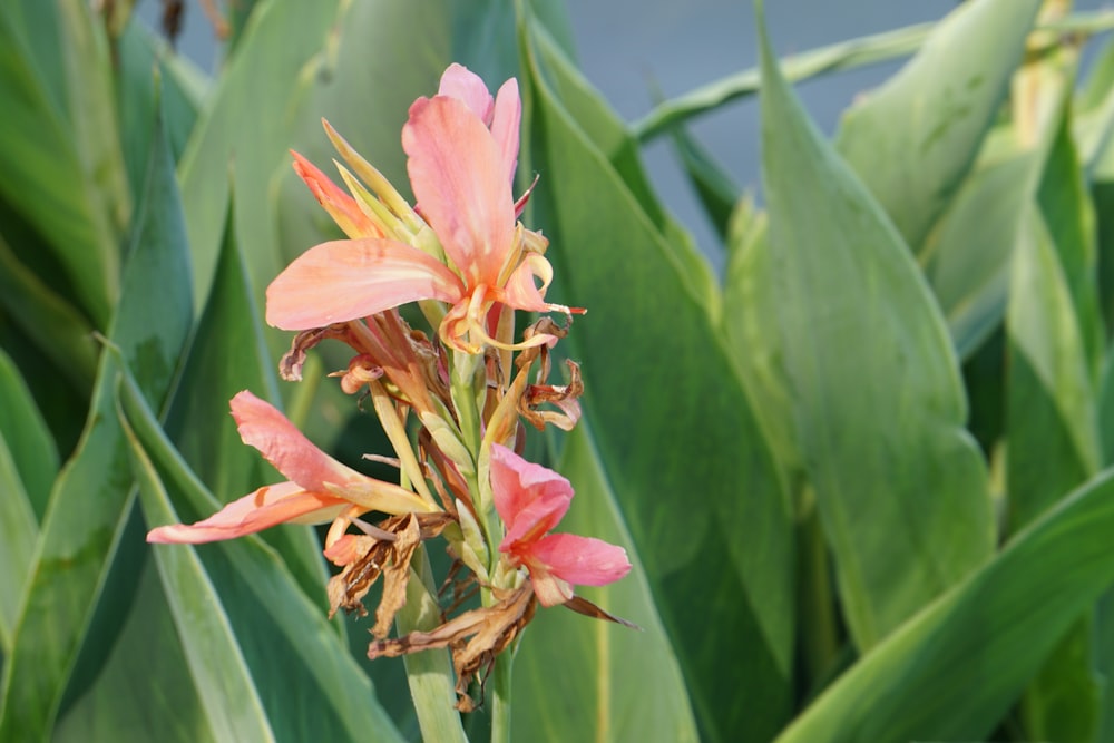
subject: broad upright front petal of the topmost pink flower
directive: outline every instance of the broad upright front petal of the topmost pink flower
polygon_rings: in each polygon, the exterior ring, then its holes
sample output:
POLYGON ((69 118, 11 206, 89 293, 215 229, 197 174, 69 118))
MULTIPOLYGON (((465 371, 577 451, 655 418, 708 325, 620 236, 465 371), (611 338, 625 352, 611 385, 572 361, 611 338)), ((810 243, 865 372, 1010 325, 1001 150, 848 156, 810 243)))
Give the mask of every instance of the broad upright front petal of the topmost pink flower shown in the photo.
POLYGON ((498 285, 514 247, 515 199, 491 133, 456 98, 419 98, 402 148, 422 213, 466 284, 498 285))

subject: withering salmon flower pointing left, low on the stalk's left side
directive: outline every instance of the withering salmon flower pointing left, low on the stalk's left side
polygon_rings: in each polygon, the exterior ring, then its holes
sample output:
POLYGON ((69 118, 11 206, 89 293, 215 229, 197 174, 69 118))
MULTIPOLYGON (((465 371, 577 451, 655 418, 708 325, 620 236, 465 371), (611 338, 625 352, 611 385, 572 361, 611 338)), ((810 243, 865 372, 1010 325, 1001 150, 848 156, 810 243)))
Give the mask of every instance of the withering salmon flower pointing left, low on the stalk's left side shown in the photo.
POLYGON ((317 449, 273 405, 246 390, 232 399, 240 436, 290 478, 264 486, 192 525, 160 526, 147 535, 158 544, 202 544, 255 534, 278 524, 321 524, 356 511, 437 510, 417 495, 342 465, 317 449))

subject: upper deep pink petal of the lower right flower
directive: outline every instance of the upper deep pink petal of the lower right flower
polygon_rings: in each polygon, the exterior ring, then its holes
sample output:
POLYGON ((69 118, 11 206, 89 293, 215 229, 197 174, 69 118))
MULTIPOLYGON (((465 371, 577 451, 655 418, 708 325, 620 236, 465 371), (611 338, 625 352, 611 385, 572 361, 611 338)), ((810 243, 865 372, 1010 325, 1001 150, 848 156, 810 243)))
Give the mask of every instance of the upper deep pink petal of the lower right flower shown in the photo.
POLYGON ((507 447, 495 443, 491 444, 491 493, 495 508, 508 529, 504 544, 509 545, 508 540, 521 539, 538 526, 544 526, 538 536, 556 526, 573 500, 573 486, 551 469, 528 462, 507 447))

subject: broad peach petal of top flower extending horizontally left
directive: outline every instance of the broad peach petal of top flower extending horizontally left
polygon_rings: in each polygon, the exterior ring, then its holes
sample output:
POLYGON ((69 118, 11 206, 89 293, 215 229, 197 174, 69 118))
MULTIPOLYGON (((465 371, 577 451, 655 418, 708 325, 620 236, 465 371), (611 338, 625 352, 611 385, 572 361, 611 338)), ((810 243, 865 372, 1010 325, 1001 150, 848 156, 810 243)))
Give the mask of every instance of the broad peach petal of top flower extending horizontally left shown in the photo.
POLYGON ((267 323, 313 330, 417 300, 456 303, 460 280, 427 253, 392 239, 322 243, 267 287, 267 323))

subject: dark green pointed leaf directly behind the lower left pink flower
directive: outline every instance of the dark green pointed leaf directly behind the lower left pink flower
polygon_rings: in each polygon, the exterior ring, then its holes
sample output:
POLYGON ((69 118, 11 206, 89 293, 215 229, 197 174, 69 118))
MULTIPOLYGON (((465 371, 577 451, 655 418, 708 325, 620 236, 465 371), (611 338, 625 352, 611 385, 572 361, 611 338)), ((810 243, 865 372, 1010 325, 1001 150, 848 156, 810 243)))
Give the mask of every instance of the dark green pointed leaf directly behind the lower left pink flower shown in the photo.
MULTIPOLYGON (((243 256, 227 227, 213 290, 174 390, 166 430, 190 468, 222 501, 277 481, 258 451, 240 440, 228 401, 241 390, 278 402, 272 360, 261 332, 243 256)), ((312 529, 282 526, 263 539, 277 549, 307 596, 326 606, 328 575, 312 529)))

